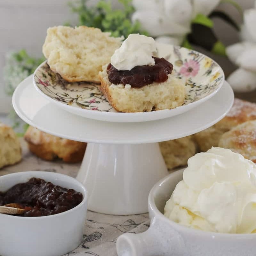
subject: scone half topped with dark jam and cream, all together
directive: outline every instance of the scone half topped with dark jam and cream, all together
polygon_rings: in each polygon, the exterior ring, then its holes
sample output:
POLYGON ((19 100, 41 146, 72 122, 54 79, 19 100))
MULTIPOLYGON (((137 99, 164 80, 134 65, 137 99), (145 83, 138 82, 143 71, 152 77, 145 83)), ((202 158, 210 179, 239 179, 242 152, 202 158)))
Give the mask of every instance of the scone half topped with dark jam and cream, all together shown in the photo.
POLYGON ((99 73, 101 89, 120 112, 144 112, 181 106, 185 84, 174 77, 172 64, 154 57, 152 37, 131 34, 99 73))

